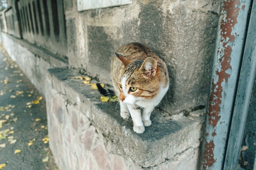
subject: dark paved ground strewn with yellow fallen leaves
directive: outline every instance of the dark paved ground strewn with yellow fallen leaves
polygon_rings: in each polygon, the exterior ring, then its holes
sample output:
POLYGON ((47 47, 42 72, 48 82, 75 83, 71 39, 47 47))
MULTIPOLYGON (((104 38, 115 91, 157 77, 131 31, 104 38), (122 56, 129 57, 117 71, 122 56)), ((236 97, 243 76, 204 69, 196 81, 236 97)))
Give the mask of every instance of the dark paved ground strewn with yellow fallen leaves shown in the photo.
POLYGON ((44 99, 0 46, 0 169, 58 170, 44 99))

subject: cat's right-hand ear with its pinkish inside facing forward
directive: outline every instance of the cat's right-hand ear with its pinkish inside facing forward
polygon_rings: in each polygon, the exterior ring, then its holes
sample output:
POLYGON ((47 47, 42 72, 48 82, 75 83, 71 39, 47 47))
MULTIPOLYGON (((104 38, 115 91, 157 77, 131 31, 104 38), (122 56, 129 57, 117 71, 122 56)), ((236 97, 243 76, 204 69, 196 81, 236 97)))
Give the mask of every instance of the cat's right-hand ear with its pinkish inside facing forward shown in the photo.
POLYGON ((145 71, 147 77, 153 78, 157 71, 157 60, 147 57, 139 69, 145 71))

